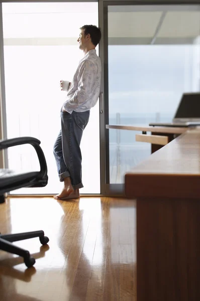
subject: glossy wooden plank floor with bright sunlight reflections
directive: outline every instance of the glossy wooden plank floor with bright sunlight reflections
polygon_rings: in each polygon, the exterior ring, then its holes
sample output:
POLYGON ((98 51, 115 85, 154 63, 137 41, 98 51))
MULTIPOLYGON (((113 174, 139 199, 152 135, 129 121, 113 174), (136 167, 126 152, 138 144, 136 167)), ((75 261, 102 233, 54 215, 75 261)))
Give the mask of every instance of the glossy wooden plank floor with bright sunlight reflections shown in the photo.
POLYGON ((118 198, 11 198, 0 204, 0 231, 44 230, 15 243, 36 258, 0 251, 1 301, 135 301, 136 203, 118 198))

